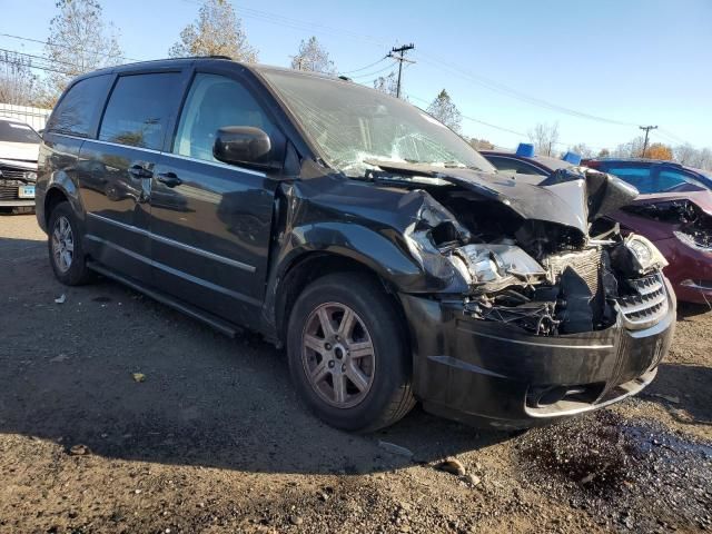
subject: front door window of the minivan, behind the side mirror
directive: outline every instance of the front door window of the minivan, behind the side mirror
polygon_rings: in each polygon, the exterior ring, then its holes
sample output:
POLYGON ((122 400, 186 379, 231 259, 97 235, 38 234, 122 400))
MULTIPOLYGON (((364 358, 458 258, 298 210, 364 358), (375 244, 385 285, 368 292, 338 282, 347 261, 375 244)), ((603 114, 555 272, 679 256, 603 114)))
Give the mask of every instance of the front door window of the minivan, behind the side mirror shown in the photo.
POLYGON ((217 161, 212 145, 217 130, 225 126, 251 126, 270 136, 275 131, 241 83, 218 75, 196 75, 180 116, 174 154, 217 161))

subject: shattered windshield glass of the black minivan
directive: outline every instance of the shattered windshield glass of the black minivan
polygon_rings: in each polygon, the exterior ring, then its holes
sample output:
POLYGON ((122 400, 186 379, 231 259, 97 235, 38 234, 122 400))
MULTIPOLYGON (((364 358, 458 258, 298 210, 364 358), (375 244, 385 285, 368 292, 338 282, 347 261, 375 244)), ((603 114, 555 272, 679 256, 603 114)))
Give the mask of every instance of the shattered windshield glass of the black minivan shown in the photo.
POLYGON ((459 136, 419 109, 352 82, 265 71, 329 164, 349 176, 366 160, 495 168, 459 136))

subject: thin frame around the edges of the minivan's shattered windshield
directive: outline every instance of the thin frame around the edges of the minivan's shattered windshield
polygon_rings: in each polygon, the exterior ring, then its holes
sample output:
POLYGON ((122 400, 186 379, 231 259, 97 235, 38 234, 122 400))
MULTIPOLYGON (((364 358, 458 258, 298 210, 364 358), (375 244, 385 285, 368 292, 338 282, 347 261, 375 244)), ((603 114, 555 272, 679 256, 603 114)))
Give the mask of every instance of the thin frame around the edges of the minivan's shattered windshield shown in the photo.
MULTIPOLYGON (((294 123, 295 128, 298 130, 298 132, 303 136, 304 140, 306 141, 306 144, 309 146, 310 150, 314 152, 315 156, 317 156, 317 158, 324 162, 326 166, 328 166, 329 168, 338 171, 339 174, 343 174, 345 176, 350 176, 347 175, 340 167, 338 164, 336 164, 334 161, 334 159, 329 156, 329 154, 327 152, 327 150, 315 139, 314 135, 309 131, 309 129, 306 128, 306 126, 304 125, 300 115, 295 111, 294 107, 291 106, 291 103, 289 102, 289 100, 287 99, 287 97, 283 93, 283 90, 278 87, 277 83, 275 83, 271 79, 271 77, 269 75, 276 75, 276 76, 289 76, 289 77, 295 77, 295 78, 312 78, 313 80, 320 80, 320 82, 324 83, 334 83, 334 85, 338 85, 338 83, 347 83, 349 89, 356 89, 358 91, 365 91, 365 92, 370 92, 374 91, 378 95, 379 98, 384 98, 386 100, 394 100, 396 102, 398 102, 399 106, 406 106, 413 109, 413 112, 417 112, 421 115, 426 116, 428 119, 436 121, 438 127, 445 128, 446 130, 448 130, 448 132, 454 136, 457 139, 457 142, 462 144, 462 147, 467 150, 467 151, 473 151, 476 155, 475 159, 482 160, 482 162, 484 164, 483 167, 484 168, 478 168, 478 170, 484 171, 484 172, 488 172, 488 174, 496 174, 497 170, 496 168, 490 162, 487 161, 487 159, 481 155, 477 150, 475 150, 459 134, 457 134, 456 131, 454 131, 452 128, 449 128, 448 126, 442 123, 441 121, 438 121, 435 117, 433 117, 431 113, 428 113, 426 110, 406 101, 403 99, 398 99, 396 97, 393 97, 390 95, 384 93, 382 91, 377 91, 376 89, 372 89, 369 87, 365 87, 362 86, 359 83, 356 83, 354 81, 350 80, 344 80, 340 78, 334 78, 330 76, 326 76, 326 75, 322 75, 318 72, 301 72, 301 71, 294 71, 290 69, 279 69, 279 68, 270 68, 270 67, 263 67, 263 66, 258 66, 258 67, 254 67, 254 71, 255 73, 259 77, 260 81, 268 88, 269 92, 271 93, 271 96, 279 102, 279 105, 284 108, 285 113, 289 117, 289 119, 291 120, 291 122, 294 123)), ((374 158, 370 158, 374 159, 374 158)), ((433 164, 421 164, 421 165, 433 165, 433 164)), ((479 166, 478 166, 479 167, 479 166)), ((448 167, 443 167, 443 172, 447 171, 448 167)), ((455 167, 458 168, 458 167, 455 167)))

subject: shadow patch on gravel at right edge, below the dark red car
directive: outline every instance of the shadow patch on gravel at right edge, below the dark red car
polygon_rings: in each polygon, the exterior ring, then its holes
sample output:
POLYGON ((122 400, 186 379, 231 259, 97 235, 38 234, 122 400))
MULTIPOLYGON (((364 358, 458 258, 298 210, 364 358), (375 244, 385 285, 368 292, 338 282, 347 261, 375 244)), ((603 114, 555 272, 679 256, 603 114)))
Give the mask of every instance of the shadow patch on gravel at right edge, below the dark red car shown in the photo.
POLYGON ((643 396, 659 403, 679 423, 712 425, 711 384, 710 367, 663 363, 643 396))

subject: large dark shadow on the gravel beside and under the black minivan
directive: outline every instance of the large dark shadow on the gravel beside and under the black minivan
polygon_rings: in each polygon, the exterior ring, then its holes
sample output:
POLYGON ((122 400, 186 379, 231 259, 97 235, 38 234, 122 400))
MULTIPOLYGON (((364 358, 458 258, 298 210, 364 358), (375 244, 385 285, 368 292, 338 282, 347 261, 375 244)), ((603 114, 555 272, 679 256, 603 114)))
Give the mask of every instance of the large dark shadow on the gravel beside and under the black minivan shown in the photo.
POLYGON ((284 353, 257 336, 226 338, 108 280, 61 286, 44 257, 8 274, 0 433, 108 458, 309 474, 394 469, 510 438, 419 409, 374 434, 339 432, 307 412, 284 353), (20 273, 27 287, 10 281, 20 273))

